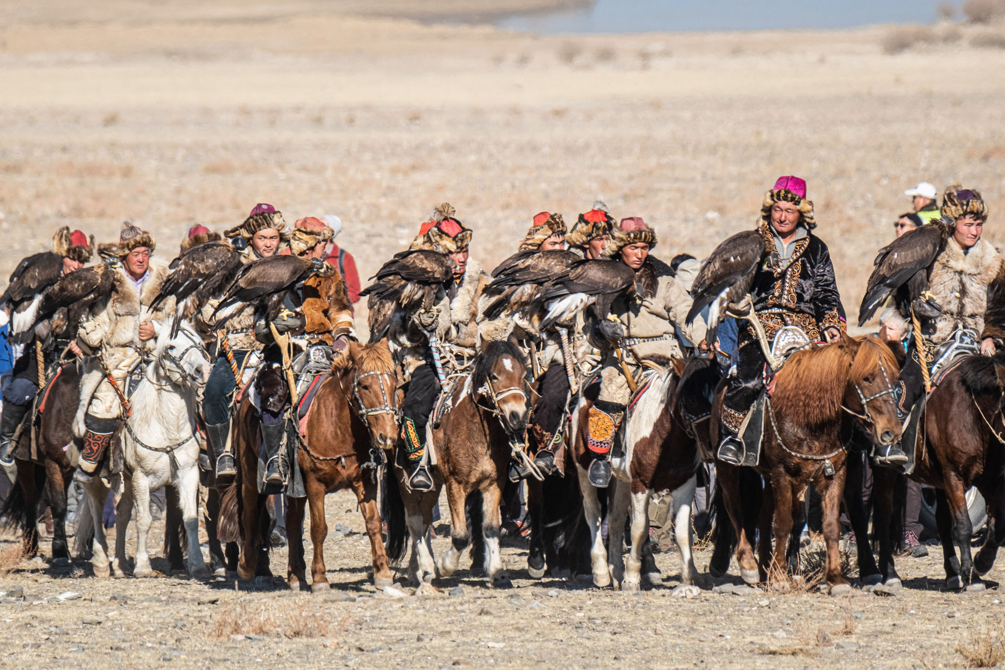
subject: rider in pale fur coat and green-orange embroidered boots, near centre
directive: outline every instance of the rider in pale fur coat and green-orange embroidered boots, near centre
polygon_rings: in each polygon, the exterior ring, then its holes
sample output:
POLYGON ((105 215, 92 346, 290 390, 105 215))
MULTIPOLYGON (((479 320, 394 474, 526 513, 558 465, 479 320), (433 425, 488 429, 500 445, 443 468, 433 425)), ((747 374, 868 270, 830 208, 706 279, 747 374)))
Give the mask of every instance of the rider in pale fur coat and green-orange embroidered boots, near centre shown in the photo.
MULTIPOLYGON (((437 304, 431 309, 407 314, 403 327, 417 327, 422 333, 417 344, 396 352, 404 379, 401 444, 409 486, 416 491, 432 490, 433 480, 425 466, 426 423, 439 396, 446 376, 461 372, 473 361, 477 345, 478 297, 487 283, 481 266, 468 255, 471 230, 454 216, 453 207, 442 204, 431 220, 422 224, 409 249, 427 249, 449 256, 454 262, 453 276, 437 304), (411 325, 409 325, 411 324, 411 325), (437 370, 437 365, 442 371, 437 370), (443 375, 443 378, 440 378, 443 375)), ((416 340, 404 333, 392 333, 395 341, 416 340)))

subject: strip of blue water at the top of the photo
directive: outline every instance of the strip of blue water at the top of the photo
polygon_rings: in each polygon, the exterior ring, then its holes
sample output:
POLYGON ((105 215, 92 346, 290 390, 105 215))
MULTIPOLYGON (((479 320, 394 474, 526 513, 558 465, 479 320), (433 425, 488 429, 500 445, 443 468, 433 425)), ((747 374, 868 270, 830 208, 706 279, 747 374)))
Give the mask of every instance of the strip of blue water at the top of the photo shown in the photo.
POLYGON ((592 7, 496 21, 543 34, 764 28, 852 28, 932 23, 938 0, 596 0, 592 7))

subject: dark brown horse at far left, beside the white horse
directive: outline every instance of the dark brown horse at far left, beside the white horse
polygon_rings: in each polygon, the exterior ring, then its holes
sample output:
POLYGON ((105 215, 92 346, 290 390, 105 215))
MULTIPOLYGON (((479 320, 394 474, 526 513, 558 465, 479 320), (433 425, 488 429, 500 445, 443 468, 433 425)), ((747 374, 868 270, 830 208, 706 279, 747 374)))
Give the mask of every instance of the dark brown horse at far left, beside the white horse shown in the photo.
POLYGON ((66 490, 73 476, 73 466, 64 450, 73 441, 73 415, 80 398, 78 363, 64 366, 51 383, 45 399, 45 411, 38 415, 36 445, 38 460, 31 460, 31 427, 25 426, 15 452, 17 481, 0 511, 23 532, 26 555, 38 553, 38 530, 35 525, 43 493, 48 494, 52 509, 52 557, 70 559, 66 544, 66 490))

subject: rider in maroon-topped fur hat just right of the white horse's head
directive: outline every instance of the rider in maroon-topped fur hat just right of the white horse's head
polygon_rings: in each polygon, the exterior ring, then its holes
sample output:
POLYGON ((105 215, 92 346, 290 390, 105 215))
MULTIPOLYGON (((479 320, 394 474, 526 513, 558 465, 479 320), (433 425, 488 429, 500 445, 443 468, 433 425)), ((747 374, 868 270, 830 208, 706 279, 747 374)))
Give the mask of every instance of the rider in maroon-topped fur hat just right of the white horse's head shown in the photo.
MULTIPOLYGON (((235 248, 240 249, 241 262, 250 263, 258 258, 274 256, 289 241, 286 222, 282 213, 267 203, 258 203, 239 226, 224 231, 235 248)), ((211 301, 204 311, 212 312, 216 305, 211 301)), ((208 315, 208 314, 207 314, 208 315)), ((207 446, 210 459, 216 459, 216 481, 226 484, 237 475, 231 450, 230 403, 240 384, 234 370, 243 367, 251 373, 261 363, 263 345, 254 337, 254 307, 245 305, 227 321, 226 332, 219 339, 213 371, 206 382, 202 411, 206 421, 207 446), (254 354, 254 365, 248 357, 254 354)), ((244 375, 241 375, 244 377, 244 375)))

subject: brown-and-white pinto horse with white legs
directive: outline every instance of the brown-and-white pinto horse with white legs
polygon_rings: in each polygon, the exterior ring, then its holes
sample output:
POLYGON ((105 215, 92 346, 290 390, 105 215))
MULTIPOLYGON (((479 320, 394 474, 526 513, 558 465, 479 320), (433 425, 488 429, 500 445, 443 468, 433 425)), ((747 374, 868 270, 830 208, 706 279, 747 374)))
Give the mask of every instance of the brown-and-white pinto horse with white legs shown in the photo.
MULTIPOLYGON (((611 459, 613 477, 608 486, 607 545, 601 534, 600 500, 597 489, 590 483, 583 458, 576 459, 580 488, 583 491, 583 512, 590 529, 590 562, 593 583, 606 587, 613 581, 615 589, 633 593, 641 589, 642 547, 649 541, 649 499, 652 494, 669 490, 672 497, 673 532, 680 552, 680 582, 703 586, 705 580, 694 567, 691 553, 691 501, 696 487, 695 472, 700 462, 697 445, 673 417, 670 406, 675 398, 673 389, 678 377, 672 373, 655 374, 633 408, 624 427, 624 456, 611 459), (633 490, 637 492, 632 492, 633 490), (623 561, 625 517, 631 514, 631 550, 627 569, 623 561)), ((580 445, 577 455, 586 450, 586 426, 580 433, 581 412, 590 403, 581 397, 573 413, 573 436, 580 445)), ((653 586, 662 584, 662 576, 650 563, 646 581, 653 586)))

